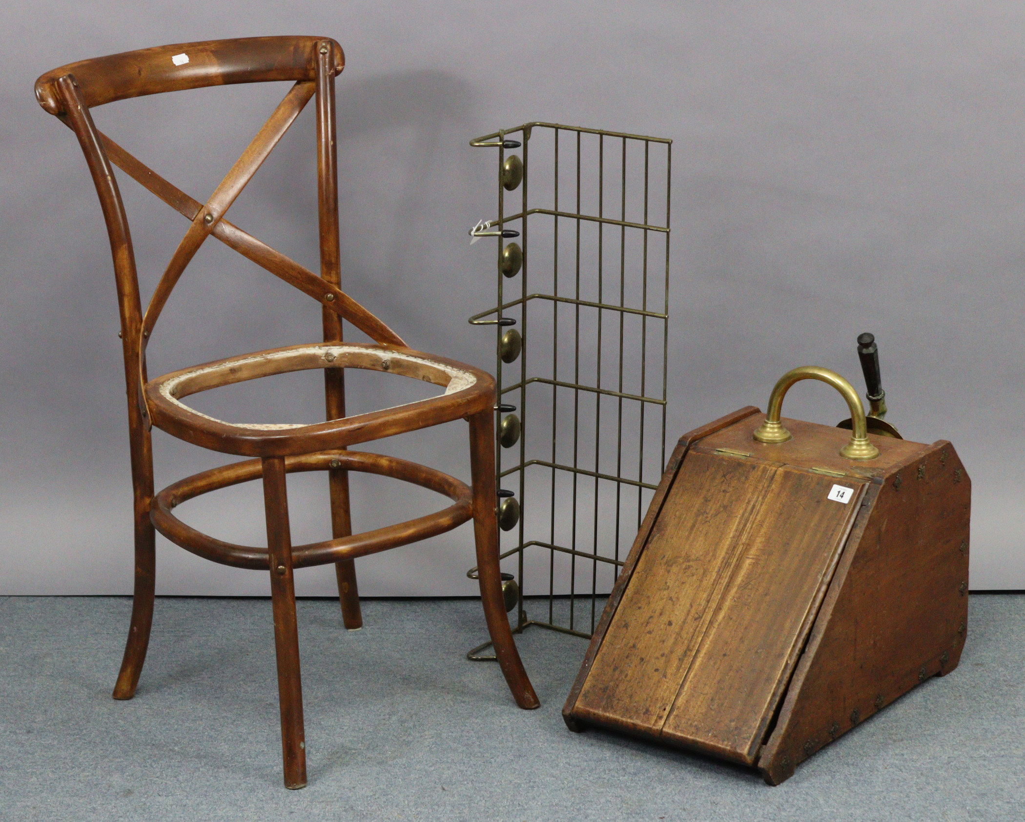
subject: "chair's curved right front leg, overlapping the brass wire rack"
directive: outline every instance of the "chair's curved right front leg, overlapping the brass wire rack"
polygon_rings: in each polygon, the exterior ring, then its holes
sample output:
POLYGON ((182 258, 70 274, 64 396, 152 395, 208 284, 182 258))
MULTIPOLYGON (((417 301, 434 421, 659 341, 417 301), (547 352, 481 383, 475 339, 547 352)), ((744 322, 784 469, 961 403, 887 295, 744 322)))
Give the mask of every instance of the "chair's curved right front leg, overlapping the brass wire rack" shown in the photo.
POLYGON ((536 708, 541 703, 527 677, 520 652, 512 641, 502 600, 501 572, 498 568, 498 521, 495 516, 495 421, 491 409, 469 417, 469 463, 474 481, 477 568, 488 632, 512 698, 521 708, 536 708))

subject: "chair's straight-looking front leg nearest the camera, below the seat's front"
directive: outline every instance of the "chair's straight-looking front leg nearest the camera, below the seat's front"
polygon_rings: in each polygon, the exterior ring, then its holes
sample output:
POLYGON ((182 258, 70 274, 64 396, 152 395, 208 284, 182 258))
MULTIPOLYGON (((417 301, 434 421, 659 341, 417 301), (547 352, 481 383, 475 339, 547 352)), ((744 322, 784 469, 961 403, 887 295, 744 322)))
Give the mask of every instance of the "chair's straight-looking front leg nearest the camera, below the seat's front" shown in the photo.
POLYGON ((284 457, 263 459, 263 507, 274 603, 274 642, 278 653, 278 697, 281 704, 281 749, 285 787, 306 784, 306 743, 302 723, 299 633, 295 622, 292 538, 288 527, 284 457))

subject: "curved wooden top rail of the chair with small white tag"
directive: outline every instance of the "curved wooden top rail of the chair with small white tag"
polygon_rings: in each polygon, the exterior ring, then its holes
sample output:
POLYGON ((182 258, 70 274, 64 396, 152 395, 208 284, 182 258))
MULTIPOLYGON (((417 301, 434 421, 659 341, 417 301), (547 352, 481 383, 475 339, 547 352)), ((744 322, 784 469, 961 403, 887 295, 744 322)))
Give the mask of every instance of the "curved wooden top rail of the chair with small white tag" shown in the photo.
POLYGON ((56 81, 69 74, 75 77, 89 108, 187 88, 316 80, 314 45, 324 41, 334 47, 334 74, 338 75, 345 67, 345 55, 341 46, 329 37, 207 40, 125 51, 60 66, 36 80, 36 99, 50 114, 64 114, 56 81))

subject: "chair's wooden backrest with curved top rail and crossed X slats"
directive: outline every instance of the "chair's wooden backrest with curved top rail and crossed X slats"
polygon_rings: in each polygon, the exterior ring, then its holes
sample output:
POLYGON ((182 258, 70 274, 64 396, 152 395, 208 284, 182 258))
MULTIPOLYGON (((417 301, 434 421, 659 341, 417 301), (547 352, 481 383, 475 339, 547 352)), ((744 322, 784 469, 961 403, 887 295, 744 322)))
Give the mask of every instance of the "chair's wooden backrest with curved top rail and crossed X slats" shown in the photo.
POLYGON ((147 427, 149 413, 142 393, 147 343, 175 283, 211 235, 321 302, 325 341, 341 339, 344 318, 376 342, 405 346, 401 337, 338 287, 334 77, 343 67, 341 47, 330 38, 253 37, 180 43, 80 60, 47 72, 36 81, 40 106, 75 131, 92 173, 114 256, 129 396, 137 398, 147 427), (295 85, 206 203, 194 200, 100 133, 89 114, 92 107, 146 94, 281 80, 294 81, 295 85), (224 219, 232 203, 314 96, 317 97, 320 276, 224 219), (128 219, 112 164, 192 223, 145 313, 128 219))

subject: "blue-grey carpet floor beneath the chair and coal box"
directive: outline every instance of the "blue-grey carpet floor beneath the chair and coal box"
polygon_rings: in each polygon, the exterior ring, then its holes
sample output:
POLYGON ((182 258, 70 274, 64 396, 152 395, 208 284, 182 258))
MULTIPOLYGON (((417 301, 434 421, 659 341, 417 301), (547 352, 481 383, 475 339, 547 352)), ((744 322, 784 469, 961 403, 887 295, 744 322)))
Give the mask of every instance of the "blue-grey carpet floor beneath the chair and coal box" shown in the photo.
MULTIPOLYGON (((775 788, 560 710, 586 643, 519 639, 516 707, 471 601, 298 605, 310 785, 282 785, 270 601, 158 600, 136 697, 111 699, 131 603, 0 600, 3 820, 1022 820, 1025 597, 974 595, 960 666, 775 788)), ((541 606, 529 604, 528 611, 541 606)))

